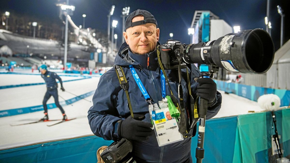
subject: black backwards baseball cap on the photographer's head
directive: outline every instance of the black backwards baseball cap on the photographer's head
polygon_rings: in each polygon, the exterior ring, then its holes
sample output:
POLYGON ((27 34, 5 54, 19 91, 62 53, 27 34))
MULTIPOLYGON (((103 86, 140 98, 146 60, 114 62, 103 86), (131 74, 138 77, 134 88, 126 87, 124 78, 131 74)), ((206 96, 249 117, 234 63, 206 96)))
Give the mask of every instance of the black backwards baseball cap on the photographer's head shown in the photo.
POLYGON ((131 14, 129 14, 128 17, 126 18, 125 30, 130 27, 139 26, 146 23, 153 23, 157 27, 157 21, 155 20, 154 16, 149 11, 138 9, 134 12, 131 12, 131 14), (144 20, 132 22, 132 19, 137 15, 143 15, 144 20))

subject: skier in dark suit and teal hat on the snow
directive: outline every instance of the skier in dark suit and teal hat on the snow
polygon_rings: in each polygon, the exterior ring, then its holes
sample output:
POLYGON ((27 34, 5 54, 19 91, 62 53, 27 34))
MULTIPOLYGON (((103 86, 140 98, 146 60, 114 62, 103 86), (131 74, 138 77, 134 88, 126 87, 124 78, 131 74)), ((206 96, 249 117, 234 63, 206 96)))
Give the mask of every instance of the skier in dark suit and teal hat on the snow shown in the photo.
POLYGON ((48 71, 47 66, 44 64, 39 67, 39 71, 41 72, 41 77, 44 79, 46 87, 47 87, 47 91, 44 95, 44 99, 42 102, 43 108, 44 108, 44 117, 41 120, 48 121, 46 102, 51 96, 55 99, 55 105, 59 108, 59 110, 61 111, 63 115, 62 120, 68 119, 66 117, 66 114, 64 113, 64 109, 61 107, 61 105, 58 102, 58 92, 57 92, 58 85, 55 79, 59 80, 59 83, 61 85, 60 89, 64 92, 65 90, 64 90, 64 87, 62 86, 61 78, 56 73, 48 71))

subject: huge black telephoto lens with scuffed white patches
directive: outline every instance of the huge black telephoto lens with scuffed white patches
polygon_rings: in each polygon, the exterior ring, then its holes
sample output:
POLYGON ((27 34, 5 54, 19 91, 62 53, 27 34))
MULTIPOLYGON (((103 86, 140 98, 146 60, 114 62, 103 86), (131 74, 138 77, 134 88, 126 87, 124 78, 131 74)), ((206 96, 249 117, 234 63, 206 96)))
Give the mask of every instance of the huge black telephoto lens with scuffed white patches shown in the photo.
POLYGON ((183 52, 186 63, 216 65, 241 73, 265 73, 272 65, 273 41, 260 28, 229 33, 217 40, 188 44, 183 52))

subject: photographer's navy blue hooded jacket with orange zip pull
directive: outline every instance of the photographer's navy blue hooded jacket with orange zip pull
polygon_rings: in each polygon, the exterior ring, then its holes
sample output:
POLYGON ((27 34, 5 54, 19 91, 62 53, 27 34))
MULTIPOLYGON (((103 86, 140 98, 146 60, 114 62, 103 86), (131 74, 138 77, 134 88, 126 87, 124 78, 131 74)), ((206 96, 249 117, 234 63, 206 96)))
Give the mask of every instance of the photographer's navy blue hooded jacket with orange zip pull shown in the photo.
MULTIPOLYGON (((156 61, 156 50, 149 53, 149 66, 151 67, 151 70, 147 68, 147 55, 136 55, 131 53, 128 51, 128 45, 124 43, 115 58, 115 65, 123 67, 129 84, 128 92, 133 113, 145 115, 146 118, 143 121, 150 123, 148 103, 145 101, 144 96, 139 90, 128 66, 134 66, 136 73, 144 84, 151 99, 153 99, 155 103, 158 102, 158 100, 162 99, 162 93, 160 69, 158 68, 156 61)), ((191 91, 193 98, 195 99, 198 83, 194 81, 194 78, 199 77, 201 74, 194 64, 192 64, 191 68, 188 68, 188 70, 190 72, 191 91)), ((165 73, 169 79, 171 90, 178 99, 178 71, 165 70, 165 73)), ((183 76, 186 77, 186 69, 182 69, 182 73, 183 76)), ((186 81, 183 78, 182 86, 184 104, 185 107, 187 107, 188 89, 186 88, 186 81)), ((166 95, 171 95, 167 83, 166 95)), ((212 118, 218 113, 221 101, 222 97, 220 93, 217 92, 215 103, 212 107, 208 108, 206 115, 207 119, 212 118)), ((125 119, 130 115, 126 93, 120 87, 115 68, 112 68, 101 76, 96 92, 93 96, 93 106, 88 111, 90 128, 95 135, 102 137, 105 140, 118 140, 120 137, 117 133, 117 121, 125 119)), ((146 141, 132 140, 133 155, 137 162, 192 162, 190 150, 191 138, 159 147, 155 133, 153 130, 152 132, 152 136, 146 141), (174 153, 174 156, 171 155, 172 153, 174 153)))

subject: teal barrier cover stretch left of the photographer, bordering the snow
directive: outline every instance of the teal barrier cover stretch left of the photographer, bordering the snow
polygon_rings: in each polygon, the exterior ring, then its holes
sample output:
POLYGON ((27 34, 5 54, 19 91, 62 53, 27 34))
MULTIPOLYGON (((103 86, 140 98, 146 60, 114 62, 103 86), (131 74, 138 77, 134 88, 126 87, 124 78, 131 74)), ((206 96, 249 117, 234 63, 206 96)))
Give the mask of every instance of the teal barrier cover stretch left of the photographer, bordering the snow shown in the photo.
POLYGON ((0 162, 97 162, 97 150, 112 141, 96 136, 0 151, 0 162))

